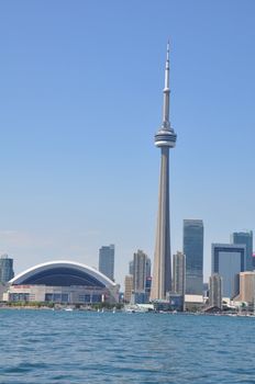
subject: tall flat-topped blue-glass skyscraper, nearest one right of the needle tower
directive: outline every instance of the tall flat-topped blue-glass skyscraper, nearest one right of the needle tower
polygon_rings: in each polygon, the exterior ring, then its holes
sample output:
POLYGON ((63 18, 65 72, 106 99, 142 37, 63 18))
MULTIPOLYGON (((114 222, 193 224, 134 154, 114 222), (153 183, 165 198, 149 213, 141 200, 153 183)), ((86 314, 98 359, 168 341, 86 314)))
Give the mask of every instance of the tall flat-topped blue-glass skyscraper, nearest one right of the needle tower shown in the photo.
POLYGON ((203 290, 203 223, 184 221, 184 253, 186 256, 186 293, 201 295, 203 290))

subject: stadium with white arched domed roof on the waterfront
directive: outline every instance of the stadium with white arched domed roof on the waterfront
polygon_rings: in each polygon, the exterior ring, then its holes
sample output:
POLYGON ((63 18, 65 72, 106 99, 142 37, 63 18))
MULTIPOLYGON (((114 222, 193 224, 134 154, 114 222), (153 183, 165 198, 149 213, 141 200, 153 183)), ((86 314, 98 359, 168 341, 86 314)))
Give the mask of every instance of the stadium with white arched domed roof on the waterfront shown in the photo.
POLYGON ((93 268, 74 261, 45 262, 10 281, 10 302, 118 303, 119 286, 93 268))

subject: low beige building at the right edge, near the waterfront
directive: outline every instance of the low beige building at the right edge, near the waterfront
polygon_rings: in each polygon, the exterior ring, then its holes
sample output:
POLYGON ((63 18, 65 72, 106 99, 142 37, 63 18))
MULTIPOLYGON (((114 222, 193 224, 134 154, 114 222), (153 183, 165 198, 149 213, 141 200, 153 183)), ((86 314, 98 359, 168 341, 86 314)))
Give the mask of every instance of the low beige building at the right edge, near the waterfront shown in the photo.
POLYGON ((254 304, 255 295, 255 271, 240 272, 240 294, 235 301, 254 304))

